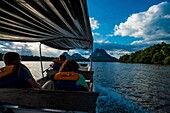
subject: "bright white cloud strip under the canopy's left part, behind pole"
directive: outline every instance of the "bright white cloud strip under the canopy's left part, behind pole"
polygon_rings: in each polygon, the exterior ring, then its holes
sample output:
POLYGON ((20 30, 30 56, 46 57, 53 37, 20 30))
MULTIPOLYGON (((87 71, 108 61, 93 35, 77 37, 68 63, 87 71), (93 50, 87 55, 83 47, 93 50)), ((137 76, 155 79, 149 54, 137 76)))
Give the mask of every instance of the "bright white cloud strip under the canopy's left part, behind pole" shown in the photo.
MULTIPOLYGON (((21 43, 21 42, 7 42, 7 41, 0 41, 1 53, 6 53, 9 51, 18 52, 21 55, 33 55, 39 56, 39 43, 21 43)), ((48 57, 58 57, 63 52, 62 50, 53 49, 51 47, 42 45, 41 47, 42 56, 48 57)))

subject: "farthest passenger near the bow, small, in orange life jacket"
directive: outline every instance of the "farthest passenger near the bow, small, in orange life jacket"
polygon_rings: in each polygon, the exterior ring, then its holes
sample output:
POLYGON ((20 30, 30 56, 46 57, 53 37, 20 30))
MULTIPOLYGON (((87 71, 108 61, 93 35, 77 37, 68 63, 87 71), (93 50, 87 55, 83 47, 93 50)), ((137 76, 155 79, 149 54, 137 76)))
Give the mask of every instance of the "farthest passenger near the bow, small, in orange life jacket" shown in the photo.
POLYGON ((66 60, 66 56, 64 54, 60 55, 58 59, 53 59, 52 61, 54 62, 50 66, 53 68, 54 71, 59 71, 62 63, 64 63, 66 60))

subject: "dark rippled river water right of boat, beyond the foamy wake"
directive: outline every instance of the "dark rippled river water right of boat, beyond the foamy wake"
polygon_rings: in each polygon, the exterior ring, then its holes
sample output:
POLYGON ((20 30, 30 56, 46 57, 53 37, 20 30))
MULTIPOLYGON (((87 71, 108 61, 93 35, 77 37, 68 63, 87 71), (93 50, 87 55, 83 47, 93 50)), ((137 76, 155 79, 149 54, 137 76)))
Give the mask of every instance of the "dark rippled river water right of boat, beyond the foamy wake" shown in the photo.
POLYGON ((149 112, 170 111, 170 66, 96 62, 94 79, 149 112))

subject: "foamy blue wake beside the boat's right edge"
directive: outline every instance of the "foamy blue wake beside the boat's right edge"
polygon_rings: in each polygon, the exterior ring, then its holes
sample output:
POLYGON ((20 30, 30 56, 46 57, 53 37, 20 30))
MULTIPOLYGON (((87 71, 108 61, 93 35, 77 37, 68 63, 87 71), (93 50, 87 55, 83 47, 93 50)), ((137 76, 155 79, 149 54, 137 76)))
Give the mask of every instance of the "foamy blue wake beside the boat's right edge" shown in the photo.
POLYGON ((97 113, 146 113, 141 106, 125 99, 120 93, 95 84, 99 92, 97 113))

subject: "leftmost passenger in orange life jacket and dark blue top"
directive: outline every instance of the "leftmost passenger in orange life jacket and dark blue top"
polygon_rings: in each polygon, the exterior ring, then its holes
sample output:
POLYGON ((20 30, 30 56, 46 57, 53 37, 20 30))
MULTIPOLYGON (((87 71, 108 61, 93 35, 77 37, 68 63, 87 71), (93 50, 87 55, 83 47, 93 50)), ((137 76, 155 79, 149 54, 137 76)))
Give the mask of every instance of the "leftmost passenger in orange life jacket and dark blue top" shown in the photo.
POLYGON ((1 88, 41 88, 34 80, 29 69, 21 64, 21 57, 16 52, 3 55, 5 67, 0 68, 1 88))

